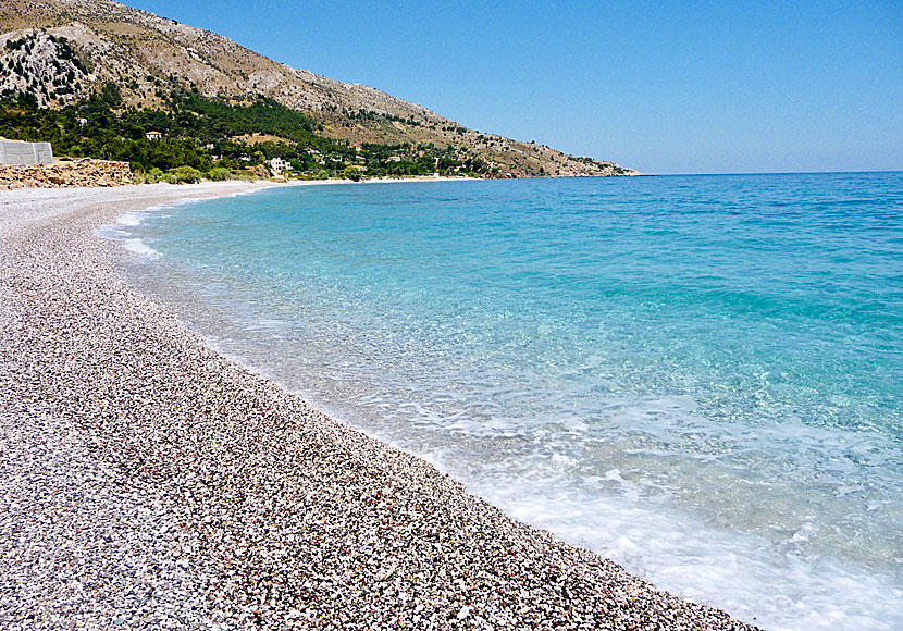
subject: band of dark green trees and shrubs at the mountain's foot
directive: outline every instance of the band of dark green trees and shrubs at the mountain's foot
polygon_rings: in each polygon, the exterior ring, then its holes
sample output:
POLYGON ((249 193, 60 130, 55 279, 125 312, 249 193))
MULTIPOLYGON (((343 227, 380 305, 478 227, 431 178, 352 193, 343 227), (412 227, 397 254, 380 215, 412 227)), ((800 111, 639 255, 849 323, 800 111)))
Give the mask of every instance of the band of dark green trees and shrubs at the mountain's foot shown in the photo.
POLYGON ((51 143, 57 156, 127 161, 148 182, 197 181, 203 174, 211 180, 240 177, 242 171, 273 158, 290 164, 289 176, 319 180, 435 172, 492 175, 481 159, 461 158, 454 147, 355 148, 321 131, 309 116, 265 97, 234 103, 174 90, 161 108, 138 109, 124 107, 116 85, 108 83, 62 109, 38 108, 34 95, 0 100, 0 136, 51 143), (150 132, 160 138, 149 137, 150 132), (255 141, 253 136, 268 139, 255 141))

